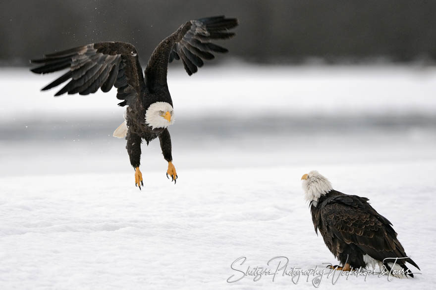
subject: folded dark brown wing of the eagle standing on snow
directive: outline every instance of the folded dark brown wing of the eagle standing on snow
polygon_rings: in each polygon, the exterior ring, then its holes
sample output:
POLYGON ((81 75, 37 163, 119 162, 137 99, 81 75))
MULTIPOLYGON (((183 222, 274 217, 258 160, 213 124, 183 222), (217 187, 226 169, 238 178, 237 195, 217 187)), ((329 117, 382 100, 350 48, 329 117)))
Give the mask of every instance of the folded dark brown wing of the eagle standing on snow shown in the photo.
MULTIPOLYGON (((353 195, 332 198, 320 213, 323 226, 332 231, 336 239, 356 245, 379 261, 406 257, 391 223, 367 201, 353 195)), ((405 261, 418 268, 412 259, 405 261)))

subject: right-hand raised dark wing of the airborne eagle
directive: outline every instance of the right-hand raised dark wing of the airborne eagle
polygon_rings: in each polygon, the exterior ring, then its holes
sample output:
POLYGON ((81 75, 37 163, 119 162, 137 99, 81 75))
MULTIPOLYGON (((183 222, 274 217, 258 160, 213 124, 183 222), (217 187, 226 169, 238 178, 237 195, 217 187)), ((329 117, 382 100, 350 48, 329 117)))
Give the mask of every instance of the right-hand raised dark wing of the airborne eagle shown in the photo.
POLYGON ((236 18, 215 16, 191 20, 180 26, 153 51, 145 70, 147 86, 166 85, 168 62, 174 59, 181 59, 185 71, 192 75, 203 66, 203 60, 215 58, 214 52, 227 52, 226 48, 211 41, 233 37, 235 34, 229 29, 237 25, 236 18))

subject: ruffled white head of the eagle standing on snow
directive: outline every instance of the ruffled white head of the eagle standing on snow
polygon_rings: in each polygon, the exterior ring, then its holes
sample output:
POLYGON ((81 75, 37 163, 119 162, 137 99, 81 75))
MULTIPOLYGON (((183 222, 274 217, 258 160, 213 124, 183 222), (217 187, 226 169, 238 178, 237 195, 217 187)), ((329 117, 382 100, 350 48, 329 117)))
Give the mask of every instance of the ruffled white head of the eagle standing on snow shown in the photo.
POLYGON ((315 202, 315 206, 322 195, 333 189, 330 181, 316 170, 304 174, 301 180, 306 200, 315 202))

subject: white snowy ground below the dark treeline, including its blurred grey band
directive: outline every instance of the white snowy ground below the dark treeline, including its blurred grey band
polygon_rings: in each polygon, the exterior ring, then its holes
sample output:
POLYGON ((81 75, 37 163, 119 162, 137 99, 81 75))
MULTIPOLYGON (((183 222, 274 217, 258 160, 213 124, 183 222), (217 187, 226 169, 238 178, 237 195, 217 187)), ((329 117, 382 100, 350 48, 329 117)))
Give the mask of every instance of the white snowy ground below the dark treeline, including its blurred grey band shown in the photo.
POLYGON ((166 179, 159 142, 143 144, 142 191, 111 137, 115 92, 39 92, 54 78, 0 71, 0 289, 313 289, 314 275, 295 285, 282 272, 227 282, 242 256, 242 271, 276 256, 288 270, 337 264, 303 199, 313 169, 369 198, 422 270, 326 275, 321 289, 432 288, 435 68, 172 67, 179 179, 166 179))

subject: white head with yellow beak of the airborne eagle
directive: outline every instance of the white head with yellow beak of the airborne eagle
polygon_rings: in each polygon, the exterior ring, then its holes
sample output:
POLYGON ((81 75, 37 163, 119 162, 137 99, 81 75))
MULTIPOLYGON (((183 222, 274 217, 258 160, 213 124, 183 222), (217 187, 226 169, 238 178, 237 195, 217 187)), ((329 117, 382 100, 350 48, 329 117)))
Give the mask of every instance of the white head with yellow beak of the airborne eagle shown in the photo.
POLYGON ((145 123, 154 128, 166 128, 174 124, 174 111, 167 102, 156 102, 145 112, 145 123))

